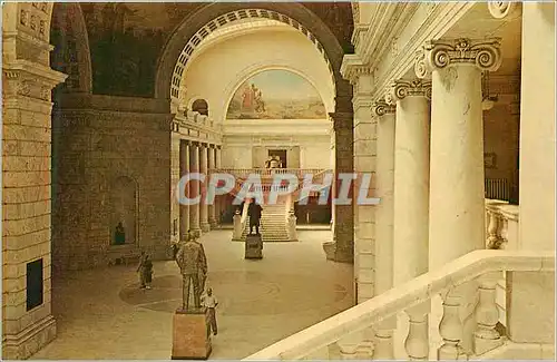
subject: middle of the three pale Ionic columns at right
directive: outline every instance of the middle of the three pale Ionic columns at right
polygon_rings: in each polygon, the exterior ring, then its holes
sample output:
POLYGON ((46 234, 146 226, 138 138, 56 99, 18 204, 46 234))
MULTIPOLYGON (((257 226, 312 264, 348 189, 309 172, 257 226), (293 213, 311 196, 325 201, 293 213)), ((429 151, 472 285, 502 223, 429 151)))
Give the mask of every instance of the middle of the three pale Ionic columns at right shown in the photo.
POLYGON ((395 80, 393 284, 428 271, 431 81, 395 80))

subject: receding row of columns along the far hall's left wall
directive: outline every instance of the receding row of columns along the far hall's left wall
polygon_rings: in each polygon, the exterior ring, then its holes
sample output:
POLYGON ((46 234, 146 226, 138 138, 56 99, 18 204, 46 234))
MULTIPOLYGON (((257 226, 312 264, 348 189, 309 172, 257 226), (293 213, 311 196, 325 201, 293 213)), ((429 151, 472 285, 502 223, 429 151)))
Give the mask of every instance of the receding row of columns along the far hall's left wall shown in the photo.
MULTIPOLYGON (((180 177, 189 173, 201 173, 208 177, 211 170, 221 168, 222 149, 219 145, 177 137, 173 139, 173 146, 178 153, 177 157, 173 155, 173 166, 175 166, 173 167, 173 187, 176 187, 180 177)), ((175 190, 173 189, 173 192, 175 190)), ((213 205, 204 203, 205 188, 198 182, 187 183, 186 196, 189 198, 201 196, 202 202, 178 206, 179 226, 177 234, 180 241, 185 239, 188 231, 199 235, 216 227, 219 224, 221 212, 226 207, 224 197, 219 196, 215 197, 213 205)))

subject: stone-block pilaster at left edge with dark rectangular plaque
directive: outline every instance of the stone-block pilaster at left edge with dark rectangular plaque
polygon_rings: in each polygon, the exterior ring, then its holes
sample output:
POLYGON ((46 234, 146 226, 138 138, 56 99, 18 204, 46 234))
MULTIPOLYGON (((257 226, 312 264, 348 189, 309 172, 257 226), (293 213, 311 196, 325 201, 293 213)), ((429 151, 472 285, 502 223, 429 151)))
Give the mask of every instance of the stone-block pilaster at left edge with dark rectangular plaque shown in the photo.
POLYGON ((66 75, 2 65, 2 358, 27 359, 56 335, 51 313, 50 91, 66 75), (32 264, 31 264, 32 263, 32 264), (36 286, 27 283, 37 265, 36 286), (32 301, 30 295, 38 299, 32 301), (8 304, 9 303, 9 304, 8 304))

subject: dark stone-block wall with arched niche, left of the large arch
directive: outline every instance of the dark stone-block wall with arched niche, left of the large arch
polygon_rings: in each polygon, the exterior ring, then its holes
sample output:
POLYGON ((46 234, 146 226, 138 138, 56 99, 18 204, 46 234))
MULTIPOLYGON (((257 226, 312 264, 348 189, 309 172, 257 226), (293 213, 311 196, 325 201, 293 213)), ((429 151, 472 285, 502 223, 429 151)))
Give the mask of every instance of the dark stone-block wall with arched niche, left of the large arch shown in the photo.
POLYGON ((121 187, 135 188, 126 192, 126 204, 135 196, 135 205, 125 207, 135 213, 125 217, 131 218, 125 221, 126 239, 135 239, 130 247, 147 250, 155 258, 167 255, 172 233, 168 109, 166 101, 90 95, 63 96, 57 102, 52 112, 55 270, 109 262, 115 218, 121 209, 115 205, 116 190, 121 187))

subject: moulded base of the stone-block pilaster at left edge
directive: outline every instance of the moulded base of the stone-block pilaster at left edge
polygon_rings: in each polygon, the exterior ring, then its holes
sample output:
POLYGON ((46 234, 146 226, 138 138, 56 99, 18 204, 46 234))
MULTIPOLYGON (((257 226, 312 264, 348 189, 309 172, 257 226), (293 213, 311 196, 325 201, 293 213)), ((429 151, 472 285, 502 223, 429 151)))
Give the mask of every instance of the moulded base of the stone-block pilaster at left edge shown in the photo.
POLYGON ((56 337, 56 321, 49 315, 18 334, 4 335, 3 360, 27 360, 56 337))

